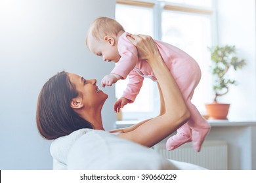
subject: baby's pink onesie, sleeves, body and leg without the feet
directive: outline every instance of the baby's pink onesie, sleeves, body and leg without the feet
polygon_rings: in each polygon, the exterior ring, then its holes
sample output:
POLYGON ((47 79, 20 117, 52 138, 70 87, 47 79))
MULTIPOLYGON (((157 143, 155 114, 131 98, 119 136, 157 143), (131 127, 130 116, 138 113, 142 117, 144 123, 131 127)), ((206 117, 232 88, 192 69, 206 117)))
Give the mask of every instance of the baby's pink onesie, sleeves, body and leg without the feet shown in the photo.
MULTIPOLYGON (((190 110, 190 127, 196 126, 200 122, 205 122, 198 109, 191 103, 192 95, 201 78, 198 63, 191 56, 171 44, 161 41, 155 42, 163 61, 175 78, 186 105, 190 110)), ((148 62, 138 59, 137 48, 127 39, 127 33, 123 33, 119 37, 117 49, 121 58, 111 73, 115 73, 123 78, 127 78, 129 75, 129 82, 122 97, 135 101, 144 77, 149 77, 157 81, 156 77, 148 62)))

